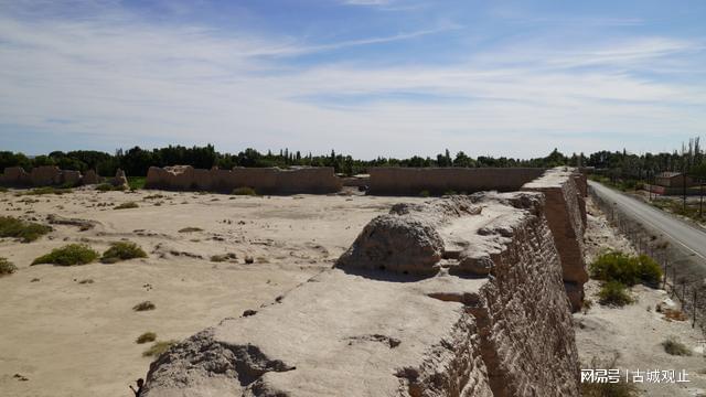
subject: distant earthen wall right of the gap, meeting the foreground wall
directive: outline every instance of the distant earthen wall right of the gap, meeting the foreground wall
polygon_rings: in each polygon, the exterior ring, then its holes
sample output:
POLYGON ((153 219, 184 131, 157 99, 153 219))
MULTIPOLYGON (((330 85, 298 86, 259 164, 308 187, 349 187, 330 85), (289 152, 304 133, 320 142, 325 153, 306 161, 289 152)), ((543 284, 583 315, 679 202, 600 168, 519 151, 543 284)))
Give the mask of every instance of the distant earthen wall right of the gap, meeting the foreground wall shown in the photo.
POLYGON ((544 169, 534 168, 372 168, 371 194, 419 195, 475 193, 482 191, 512 192, 538 178, 544 169))

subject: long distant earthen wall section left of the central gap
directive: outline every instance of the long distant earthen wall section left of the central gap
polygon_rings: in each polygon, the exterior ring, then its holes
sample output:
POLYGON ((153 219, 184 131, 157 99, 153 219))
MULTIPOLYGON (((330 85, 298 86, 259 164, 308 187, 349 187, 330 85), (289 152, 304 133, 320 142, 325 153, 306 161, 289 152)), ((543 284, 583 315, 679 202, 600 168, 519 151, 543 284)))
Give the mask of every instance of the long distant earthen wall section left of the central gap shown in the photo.
POLYGON ((147 189, 194 190, 231 193, 236 187, 252 187, 263 194, 334 193, 341 182, 333 168, 234 168, 203 170, 190 165, 150 167, 147 189))

